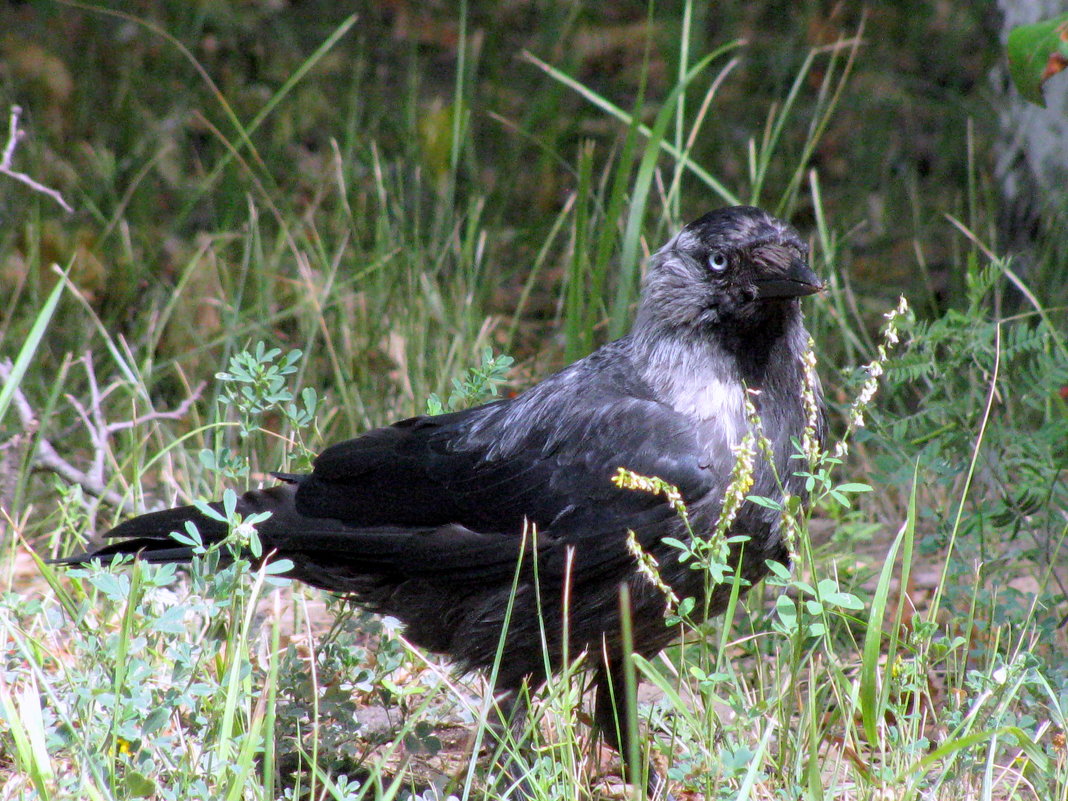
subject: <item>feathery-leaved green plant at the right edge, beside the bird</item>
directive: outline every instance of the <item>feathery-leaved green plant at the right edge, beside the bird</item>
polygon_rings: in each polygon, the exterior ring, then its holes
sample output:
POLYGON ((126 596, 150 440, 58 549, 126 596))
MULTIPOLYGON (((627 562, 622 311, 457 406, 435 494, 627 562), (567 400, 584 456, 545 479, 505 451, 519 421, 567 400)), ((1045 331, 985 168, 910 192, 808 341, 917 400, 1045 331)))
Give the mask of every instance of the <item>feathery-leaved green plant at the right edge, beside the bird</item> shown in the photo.
MULTIPOLYGON (((1007 567, 1008 544, 1016 559, 1038 565, 1066 547, 1057 509, 1068 505, 1061 478, 1068 466, 1068 343, 1041 305, 1008 317, 988 311, 1005 274, 1015 277, 1004 260, 993 260, 973 272, 965 309, 907 321, 909 345, 886 367, 900 406, 878 412, 873 426, 883 454, 877 464, 891 483, 916 462, 928 503, 936 492, 960 497, 956 516, 921 506, 927 524, 920 541, 925 552, 949 545, 948 565, 963 575, 973 557, 990 576, 1007 567)), ((1058 577, 1051 572, 1049 581, 1056 585, 1058 577)), ((1059 596, 1068 597, 1066 587, 1059 596)))

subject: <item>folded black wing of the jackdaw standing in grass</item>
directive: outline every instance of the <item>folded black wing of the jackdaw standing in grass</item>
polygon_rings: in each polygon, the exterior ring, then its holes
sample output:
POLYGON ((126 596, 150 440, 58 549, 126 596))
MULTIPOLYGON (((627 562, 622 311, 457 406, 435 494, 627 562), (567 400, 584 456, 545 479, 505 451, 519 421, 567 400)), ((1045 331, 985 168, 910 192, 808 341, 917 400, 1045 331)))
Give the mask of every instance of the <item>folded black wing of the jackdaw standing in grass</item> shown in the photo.
POLYGON ((655 399, 616 388, 579 404, 565 393, 535 396, 525 410, 516 403, 333 445, 300 482, 297 511, 357 530, 345 550, 408 575, 506 579, 532 531, 539 551, 559 562, 560 546, 572 546, 568 569, 593 575, 632 559, 628 530, 645 547, 676 532, 662 498, 612 482, 618 468, 662 478, 691 502, 722 486, 702 467, 690 421, 655 399))

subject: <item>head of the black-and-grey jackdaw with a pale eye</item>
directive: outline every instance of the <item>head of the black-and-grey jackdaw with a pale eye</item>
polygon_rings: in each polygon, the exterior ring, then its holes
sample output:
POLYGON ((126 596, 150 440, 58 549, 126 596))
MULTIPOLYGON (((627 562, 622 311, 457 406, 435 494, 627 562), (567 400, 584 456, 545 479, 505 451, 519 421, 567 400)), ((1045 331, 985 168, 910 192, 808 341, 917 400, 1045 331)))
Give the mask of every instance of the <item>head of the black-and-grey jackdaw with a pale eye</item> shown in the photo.
POLYGON ((822 288, 807 256, 797 231, 767 211, 710 211, 653 257, 638 325, 741 333, 799 316, 798 298, 822 288))

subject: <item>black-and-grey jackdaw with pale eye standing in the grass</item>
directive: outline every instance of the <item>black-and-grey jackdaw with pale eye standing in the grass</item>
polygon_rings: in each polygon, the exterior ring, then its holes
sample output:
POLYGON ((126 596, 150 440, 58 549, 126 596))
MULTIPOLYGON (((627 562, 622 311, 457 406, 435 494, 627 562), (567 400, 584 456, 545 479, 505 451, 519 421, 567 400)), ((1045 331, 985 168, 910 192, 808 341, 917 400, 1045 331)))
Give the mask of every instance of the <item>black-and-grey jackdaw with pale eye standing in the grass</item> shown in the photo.
MULTIPOLYGON (((736 451, 756 427, 770 447, 756 450, 749 492, 806 502, 795 443, 806 430, 821 441, 826 423, 818 379, 806 379, 800 300, 821 289, 791 225, 754 206, 710 211, 651 255, 623 337, 513 397, 328 446, 311 472, 274 474, 237 512, 270 513, 256 525, 263 552, 288 560, 289 577, 399 619, 409 641, 460 672, 496 665, 492 691, 513 723, 529 688, 585 653, 594 723, 630 753, 639 732, 621 708, 621 591, 630 650, 646 658, 677 637, 665 588, 723 611, 729 587, 705 598, 677 541, 716 530, 736 451), (688 519, 662 493, 613 482, 621 468, 674 488, 688 519), (643 552, 660 581, 643 572, 643 552)), ((789 563, 781 514, 750 500, 735 511, 726 533, 743 540, 731 546, 741 592, 769 562, 789 563)), ((180 506, 122 522, 109 544, 61 561, 187 562, 193 551, 172 532, 189 522, 205 544, 227 535, 180 506)), ((649 796, 669 798, 646 770, 649 796)))

